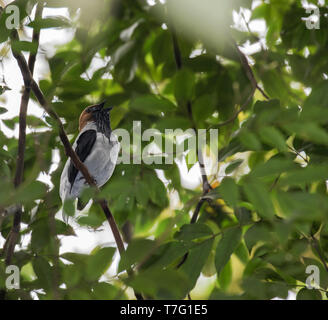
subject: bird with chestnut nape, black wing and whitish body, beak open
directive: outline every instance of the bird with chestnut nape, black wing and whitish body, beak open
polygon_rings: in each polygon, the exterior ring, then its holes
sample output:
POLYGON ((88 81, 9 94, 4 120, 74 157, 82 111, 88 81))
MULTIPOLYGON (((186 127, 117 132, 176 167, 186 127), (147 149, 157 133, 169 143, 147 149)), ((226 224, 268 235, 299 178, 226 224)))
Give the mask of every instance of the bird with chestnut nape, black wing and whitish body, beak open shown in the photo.
MULTIPOLYGON (((104 108, 105 102, 86 107, 79 118, 79 134, 72 148, 89 170, 98 187, 103 186, 112 176, 120 149, 117 136, 112 132, 110 111, 104 108)), ((77 209, 82 210, 86 203, 80 199, 88 186, 83 174, 69 158, 60 177, 59 194, 62 202, 78 199, 77 209)), ((63 212, 64 220, 67 215, 63 212)))

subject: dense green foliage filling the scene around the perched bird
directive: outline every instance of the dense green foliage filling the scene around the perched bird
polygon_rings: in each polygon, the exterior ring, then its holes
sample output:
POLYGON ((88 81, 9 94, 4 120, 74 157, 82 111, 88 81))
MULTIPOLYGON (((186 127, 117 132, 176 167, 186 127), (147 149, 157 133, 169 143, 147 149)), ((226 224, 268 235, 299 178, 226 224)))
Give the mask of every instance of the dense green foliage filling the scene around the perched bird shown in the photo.
MULTIPOLYGON (((197 1, 181 0, 186 10, 172 4, 171 15, 170 1, 48 0, 46 7, 67 7, 70 19, 31 21, 26 16, 36 2, 14 1, 21 9, 21 31, 75 30, 72 41, 47 55, 50 73, 39 81, 71 141, 81 110, 106 100, 115 106, 114 129, 132 134, 133 121, 141 121, 143 129, 163 132, 163 146, 170 138, 164 129, 217 128, 219 162, 207 176, 212 190, 205 193, 202 184, 193 190, 183 186, 176 163, 117 165, 101 195, 129 243, 117 275, 104 278, 116 247, 60 254, 60 239, 74 230, 55 216, 62 208, 58 188, 67 158, 56 123, 48 116, 27 116, 28 126, 37 130, 27 134, 24 182, 16 189, 18 140, 1 132, 1 237, 7 238, 13 225, 5 209, 17 202, 23 205, 21 236, 30 235, 12 259, 21 270, 20 289, 8 291, 6 298, 132 298, 126 295, 132 287, 155 299, 183 299, 192 289, 191 298, 286 298, 292 290, 299 299, 327 299, 326 1, 319 1, 320 29, 306 27, 303 18, 309 14, 299 0, 199 1, 209 10, 198 12, 188 9, 197 1), (233 12, 243 27, 235 24, 233 12), (242 12, 250 18, 243 20, 242 12), (188 19, 204 29, 188 32, 188 19), (263 34, 250 27, 258 19, 265 21, 263 34), (242 50, 255 43, 259 49, 249 59, 235 46, 242 50), (94 59, 102 66, 90 72, 94 59), (50 172, 54 150, 60 163, 50 172), (37 180, 41 172, 50 172, 53 187, 37 180), (178 206, 172 204, 177 198, 178 206), (197 207, 198 220, 190 224, 197 207), (318 289, 305 288, 309 265, 320 270, 318 289), (133 276, 124 272, 130 266, 133 276)), ((1 45, 35 52, 36 45, 10 38, 5 18, 3 13, 1 45)), ((0 94, 7 89, 3 84, 0 94)), ((19 118, 6 119, 10 106, 2 104, 1 126, 14 128, 19 118)), ((72 203, 65 206, 85 228, 97 230, 106 220, 96 203, 82 214, 72 203)), ((6 276, 1 257, 2 288, 6 276)))

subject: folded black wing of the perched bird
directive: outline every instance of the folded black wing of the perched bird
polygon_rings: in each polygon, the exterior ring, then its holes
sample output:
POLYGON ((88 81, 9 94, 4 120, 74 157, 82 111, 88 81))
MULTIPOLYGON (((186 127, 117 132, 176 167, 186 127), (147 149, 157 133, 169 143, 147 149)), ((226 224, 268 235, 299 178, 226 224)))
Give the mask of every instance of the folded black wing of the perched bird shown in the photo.
MULTIPOLYGON (((84 160, 90 154, 90 151, 93 145, 95 144, 96 138, 97 138, 96 130, 87 130, 83 132, 80 135, 79 139, 77 140, 77 146, 75 148, 75 152, 82 162, 84 162, 84 160)), ((73 187, 77 173, 78 170, 75 168, 71 160, 70 165, 68 167, 68 181, 71 184, 71 189, 73 187)))

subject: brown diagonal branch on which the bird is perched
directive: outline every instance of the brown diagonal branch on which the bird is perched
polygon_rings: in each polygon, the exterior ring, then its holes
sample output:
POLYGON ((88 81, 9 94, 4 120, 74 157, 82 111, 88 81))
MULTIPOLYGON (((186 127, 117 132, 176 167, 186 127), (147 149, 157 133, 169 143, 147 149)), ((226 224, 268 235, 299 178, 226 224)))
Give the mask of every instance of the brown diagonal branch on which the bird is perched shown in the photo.
MULTIPOLYGON (((75 151, 73 150, 67 135, 65 133, 64 130, 64 126, 62 121, 60 120, 58 114, 51 108, 51 106, 48 104, 46 98, 44 97, 42 91, 40 90, 38 84, 35 82, 35 80, 32 77, 32 74, 28 68, 28 65, 26 63, 26 60, 24 58, 24 56, 20 53, 17 52, 13 52, 13 55, 15 57, 15 59, 17 60, 17 63, 19 65, 19 68, 21 70, 23 79, 24 79, 24 83, 25 86, 30 87, 31 90, 33 91, 36 99, 39 101, 40 105, 46 110, 46 112, 49 114, 49 116, 51 116, 57 123, 58 125, 58 129, 59 129, 59 137, 62 141, 62 144, 65 148, 65 152, 66 155, 71 159, 71 161, 73 162, 74 166, 81 171, 83 177, 85 178, 86 182, 93 188, 96 189, 96 191, 98 192, 99 189, 93 179, 93 177, 90 175, 88 169, 86 168, 86 166, 81 162, 81 160, 79 159, 79 157, 76 155, 75 151)), ((99 203, 99 205, 101 206, 101 208, 104 211, 104 214, 107 218, 107 221, 111 227, 112 233, 114 235, 116 244, 117 244, 117 248, 119 250, 120 255, 122 255, 122 253, 125 251, 124 248, 124 244, 123 244, 123 240, 121 238, 119 229, 117 227, 117 224, 115 222, 114 216, 111 213, 107 201, 105 199, 98 199, 97 202, 99 203)), ((132 275, 132 270, 127 270, 127 272, 132 275)), ((136 293, 136 297, 138 300, 143 300, 142 296, 140 294, 136 293)))

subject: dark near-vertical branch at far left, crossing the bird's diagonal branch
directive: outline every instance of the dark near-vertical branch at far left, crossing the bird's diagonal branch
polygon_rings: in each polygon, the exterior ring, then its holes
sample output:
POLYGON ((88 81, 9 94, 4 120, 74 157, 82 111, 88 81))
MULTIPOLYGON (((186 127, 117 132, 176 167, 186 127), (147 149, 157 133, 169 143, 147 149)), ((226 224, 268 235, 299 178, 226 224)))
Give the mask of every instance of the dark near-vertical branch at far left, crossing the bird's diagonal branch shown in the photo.
MULTIPOLYGON (((37 3, 35 17, 42 17, 43 4, 37 3)), ((32 35, 32 42, 36 44, 35 53, 31 53, 28 59, 28 68, 30 73, 33 75, 34 65, 36 60, 36 55, 39 47, 40 40, 40 30, 34 29, 32 35)), ((16 159, 16 173, 14 178, 14 186, 18 188, 19 185, 23 182, 23 174, 24 174, 24 156, 25 156, 25 144, 26 144, 26 115, 27 115, 27 107, 30 99, 31 88, 25 86, 24 92, 21 97, 20 111, 19 111, 19 137, 18 137, 18 155, 16 159)), ((18 205, 17 210, 14 214, 14 222, 11 228, 10 233, 6 239, 6 243, 4 245, 4 253, 5 253, 5 263, 9 265, 12 260, 13 253, 15 251, 15 246, 17 243, 20 224, 22 220, 22 206, 18 205)))

